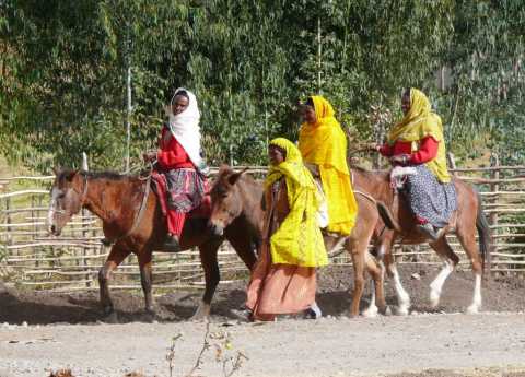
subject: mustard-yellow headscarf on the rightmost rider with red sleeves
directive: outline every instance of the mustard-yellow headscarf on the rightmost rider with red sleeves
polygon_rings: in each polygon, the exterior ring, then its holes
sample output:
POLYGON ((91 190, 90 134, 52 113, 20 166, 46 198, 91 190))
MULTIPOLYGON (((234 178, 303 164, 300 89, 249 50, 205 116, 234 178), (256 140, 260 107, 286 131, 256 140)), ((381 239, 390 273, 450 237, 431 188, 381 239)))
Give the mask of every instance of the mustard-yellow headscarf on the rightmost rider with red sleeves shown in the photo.
POLYGON ((388 144, 396 141, 412 142, 412 152, 419 150, 419 141, 432 137, 439 142, 438 155, 425 163, 430 172, 441 182, 450 182, 451 176, 446 168, 446 150, 443 137, 443 125, 438 114, 432 113, 430 101, 423 92, 410 89, 410 109, 402 120, 388 133, 388 144))

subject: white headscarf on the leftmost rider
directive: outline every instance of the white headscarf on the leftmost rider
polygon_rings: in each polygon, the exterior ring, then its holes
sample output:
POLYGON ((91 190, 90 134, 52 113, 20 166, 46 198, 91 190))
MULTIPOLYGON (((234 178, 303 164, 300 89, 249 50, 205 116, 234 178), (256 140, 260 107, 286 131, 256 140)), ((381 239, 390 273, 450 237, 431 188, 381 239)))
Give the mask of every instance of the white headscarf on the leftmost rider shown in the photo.
POLYGON ((170 102, 170 107, 166 106, 165 110, 170 117, 170 131, 180 145, 183 145, 195 167, 198 169, 201 168, 205 165, 205 162, 200 156, 200 113, 195 94, 184 87, 178 87, 170 102), (172 110, 173 99, 182 91, 185 91, 188 94, 188 107, 183 113, 174 115, 172 110))

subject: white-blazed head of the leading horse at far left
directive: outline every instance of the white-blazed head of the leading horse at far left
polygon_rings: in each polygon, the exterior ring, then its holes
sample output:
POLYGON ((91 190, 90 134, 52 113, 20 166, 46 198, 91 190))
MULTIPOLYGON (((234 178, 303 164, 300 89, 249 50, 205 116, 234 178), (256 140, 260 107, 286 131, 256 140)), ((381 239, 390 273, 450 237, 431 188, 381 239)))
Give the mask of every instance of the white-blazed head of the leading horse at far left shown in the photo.
POLYGON ((79 170, 55 170, 55 175, 47 225, 48 232, 58 236, 71 216, 81 210, 88 191, 88 180, 79 170))

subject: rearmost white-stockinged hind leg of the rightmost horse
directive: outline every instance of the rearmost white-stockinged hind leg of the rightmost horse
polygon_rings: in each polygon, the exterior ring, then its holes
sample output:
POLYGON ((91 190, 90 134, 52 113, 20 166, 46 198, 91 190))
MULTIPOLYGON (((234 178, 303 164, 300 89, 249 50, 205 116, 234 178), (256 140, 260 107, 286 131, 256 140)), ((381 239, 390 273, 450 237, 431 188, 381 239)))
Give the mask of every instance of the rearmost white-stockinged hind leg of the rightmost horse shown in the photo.
MULTIPOLYGON (((470 225, 470 224, 469 224, 470 225)), ((481 307, 481 274, 482 263, 479 256, 478 246, 476 245, 475 228, 465 228, 458 224, 456 236, 462 244, 465 252, 470 259, 472 272, 475 276, 472 303, 467 308, 467 313, 476 314, 481 307)))

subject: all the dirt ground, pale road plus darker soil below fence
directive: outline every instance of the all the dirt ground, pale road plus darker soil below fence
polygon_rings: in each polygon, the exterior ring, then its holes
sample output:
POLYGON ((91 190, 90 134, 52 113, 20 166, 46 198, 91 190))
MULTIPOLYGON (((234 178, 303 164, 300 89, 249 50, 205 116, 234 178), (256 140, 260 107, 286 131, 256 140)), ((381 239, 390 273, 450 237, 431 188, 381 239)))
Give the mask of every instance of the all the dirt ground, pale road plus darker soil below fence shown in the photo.
MULTIPOLYGON (((318 304, 325 317, 317 321, 238 323, 230 309, 243 304, 244 283, 221 286, 209 325, 210 349, 194 376, 223 376, 217 357, 242 352, 248 360, 234 376, 525 377, 523 280, 485 283, 483 313, 468 316, 458 311, 470 304, 471 273, 454 272, 441 306, 431 310, 428 286, 438 269, 399 270, 412 301, 407 317, 348 318, 352 275, 347 267, 331 266, 319 273, 318 304), (415 273, 419 280, 411 279, 415 273)), ((388 304, 395 305, 392 284, 387 293, 388 304)), ((191 369, 207 327, 188 321, 200 292, 158 296, 155 318, 143 313, 141 294, 113 296, 118 325, 101 321, 96 292, 22 292, 0 283, 0 377, 49 376, 63 367, 77 377, 120 377, 132 370, 170 376, 166 356, 178 334, 173 376, 191 369)), ((369 297, 370 288, 363 307, 369 297)))

